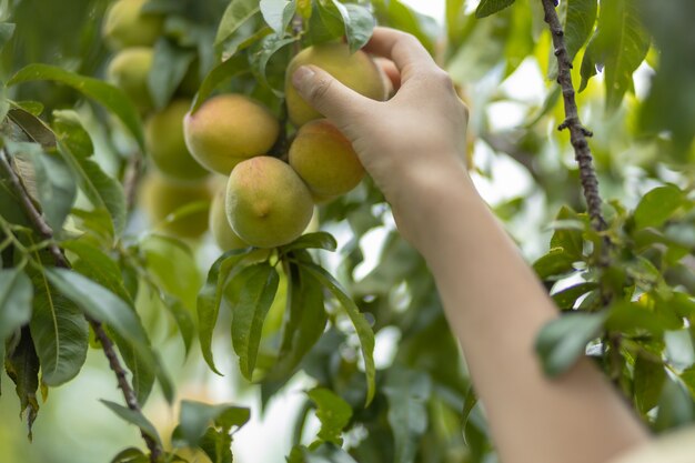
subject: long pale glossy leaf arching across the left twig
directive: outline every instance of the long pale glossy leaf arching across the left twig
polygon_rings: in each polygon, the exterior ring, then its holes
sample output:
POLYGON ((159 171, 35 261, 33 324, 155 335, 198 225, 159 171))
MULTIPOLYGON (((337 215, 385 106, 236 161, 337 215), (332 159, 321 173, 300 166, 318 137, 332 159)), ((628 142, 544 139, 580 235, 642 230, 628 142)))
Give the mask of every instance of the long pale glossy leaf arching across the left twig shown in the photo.
POLYGON ((104 286, 66 269, 47 269, 49 281, 68 299, 72 300, 91 319, 107 323, 133 346, 139 359, 155 372, 165 399, 173 401, 171 380, 150 345, 138 315, 104 286))

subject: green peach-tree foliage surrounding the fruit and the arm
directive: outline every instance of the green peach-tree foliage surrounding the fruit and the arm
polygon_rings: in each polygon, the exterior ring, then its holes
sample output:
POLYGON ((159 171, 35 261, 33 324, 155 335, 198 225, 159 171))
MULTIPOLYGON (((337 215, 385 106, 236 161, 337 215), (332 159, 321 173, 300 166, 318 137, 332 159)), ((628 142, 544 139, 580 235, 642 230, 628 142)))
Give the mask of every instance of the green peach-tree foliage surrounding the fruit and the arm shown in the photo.
MULTIPOLYGON (((100 36, 105 2, 9 3, 9 12, 0 8, 0 356, 30 435, 49 391, 83 374, 85 359, 102 350, 122 359, 135 396, 125 397, 128 406, 103 404, 149 447, 111 461, 185 461, 184 450, 198 447, 213 462, 231 462, 235 432, 262 410, 183 401, 163 439, 141 412, 154 384, 178 402, 160 354, 163 330, 181 338, 180 362, 204 359, 215 373, 214 346, 231 344, 240 381, 255 384, 263 407, 304 378, 290 462, 493 457, 432 276, 369 180, 321 207, 323 231, 260 261, 251 248, 215 249, 207 259, 209 245, 143 225, 133 201, 141 171, 151 168, 137 102, 104 77, 112 56, 100 36), (349 238, 339 249, 328 231, 349 238), (375 234, 384 242, 364 274, 365 253, 374 252, 365 242, 375 234), (397 341, 393 359, 380 363, 374 351, 384 333, 397 341), (195 334, 200 351, 191 349, 195 334), (308 437, 313 410, 321 426, 308 437), (164 450, 157 455, 155 447, 164 450)), ((607 199, 607 227, 596 229, 583 212, 572 145, 553 130, 565 114, 542 1, 470 3, 447 0, 442 29, 397 0, 150 0, 143 11, 164 18, 148 77, 154 110, 184 94, 188 79, 194 109, 234 91, 286 125, 284 70, 299 50, 343 37, 356 50, 376 21, 414 34, 472 108, 474 177, 495 182, 496 165, 511 160, 531 179, 518 197, 493 207, 525 241, 565 313, 538 335, 544 370, 558 375, 590 355, 653 430, 694 421, 695 10, 689 0, 558 6, 607 199), (551 78, 544 101, 507 90, 522 68, 551 78), (513 128, 496 120, 504 103, 523 114, 513 128), (537 232, 545 223, 550 236, 537 232)))

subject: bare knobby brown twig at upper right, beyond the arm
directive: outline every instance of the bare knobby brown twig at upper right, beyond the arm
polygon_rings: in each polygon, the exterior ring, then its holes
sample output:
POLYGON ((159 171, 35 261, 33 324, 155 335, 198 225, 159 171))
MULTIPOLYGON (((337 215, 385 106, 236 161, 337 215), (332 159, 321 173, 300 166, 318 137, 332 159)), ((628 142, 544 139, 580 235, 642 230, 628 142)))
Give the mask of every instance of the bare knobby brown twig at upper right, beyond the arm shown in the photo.
MULTIPOLYGON (((574 148, 577 164, 580 165, 580 178, 584 190, 584 198, 586 199, 588 215, 594 229, 601 232, 606 230, 607 224, 601 212, 602 200, 598 193, 598 180, 592 164, 592 151, 586 140, 588 137, 592 137, 592 132, 582 125, 582 121, 580 120, 574 85, 572 84, 572 61, 570 60, 570 54, 565 46, 564 31, 557 12, 555 11, 556 1, 541 1, 545 10, 545 22, 550 26, 551 36, 553 37, 554 54, 557 58, 557 83, 560 83, 565 102, 565 120, 560 124, 557 130, 570 130, 570 141, 574 148)), ((604 250, 604 252, 607 252, 607 250, 604 250)))

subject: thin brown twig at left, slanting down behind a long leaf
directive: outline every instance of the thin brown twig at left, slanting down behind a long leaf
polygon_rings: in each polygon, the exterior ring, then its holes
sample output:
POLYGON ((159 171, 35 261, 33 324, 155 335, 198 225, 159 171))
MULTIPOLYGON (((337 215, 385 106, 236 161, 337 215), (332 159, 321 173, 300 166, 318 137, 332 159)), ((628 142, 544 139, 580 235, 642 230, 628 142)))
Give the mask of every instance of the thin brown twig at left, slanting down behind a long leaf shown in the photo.
MULTIPOLYGON (((7 174, 10 187, 12 188, 14 193, 17 193, 19 201, 24 210, 24 213, 33 224, 36 231, 49 242, 48 249, 56 261, 56 266, 62 269, 71 269, 70 262, 68 261, 68 259, 66 259, 63 251, 53 241, 53 230, 49 227, 41 212, 34 205, 21 179, 19 178, 17 172, 14 172, 14 169, 12 169, 10 160, 4 150, 0 150, 0 168, 2 168, 2 171, 4 171, 4 173, 7 174)), ((134 412, 142 413, 142 411, 140 410, 140 404, 138 403, 138 396, 135 395, 135 392, 128 382, 125 369, 123 368, 123 365, 121 365, 121 361, 115 353, 113 342, 107 334, 101 322, 88 315, 84 316, 91 325, 92 330, 94 331, 94 334, 99 339, 101 346, 103 348, 103 352, 109 360, 109 366, 111 368, 113 373, 115 373, 119 387, 123 392, 123 399, 125 399, 128 407, 134 412)), ((140 434, 148 445, 148 449, 150 450, 150 461, 152 463, 159 462, 163 454, 161 446, 143 430, 140 430, 140 434)))

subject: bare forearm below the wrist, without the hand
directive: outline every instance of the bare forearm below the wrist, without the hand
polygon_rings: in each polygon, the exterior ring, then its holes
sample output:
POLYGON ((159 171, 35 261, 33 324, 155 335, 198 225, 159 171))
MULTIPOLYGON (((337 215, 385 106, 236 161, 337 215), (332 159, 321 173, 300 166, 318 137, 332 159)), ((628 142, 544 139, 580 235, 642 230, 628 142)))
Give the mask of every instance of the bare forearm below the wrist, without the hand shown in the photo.
MULTIPOLYGON (((504 463, 600 463, 646 433, 588 360, 556 380, 533 344, 552 301, 467 174, 411 193, 416 245, 436 280, 504 463), (413 202, 426 202, 413 204, 413 202)), ((404 218, 407 221, 407 218, 404 218)))

